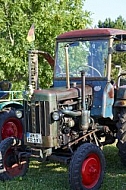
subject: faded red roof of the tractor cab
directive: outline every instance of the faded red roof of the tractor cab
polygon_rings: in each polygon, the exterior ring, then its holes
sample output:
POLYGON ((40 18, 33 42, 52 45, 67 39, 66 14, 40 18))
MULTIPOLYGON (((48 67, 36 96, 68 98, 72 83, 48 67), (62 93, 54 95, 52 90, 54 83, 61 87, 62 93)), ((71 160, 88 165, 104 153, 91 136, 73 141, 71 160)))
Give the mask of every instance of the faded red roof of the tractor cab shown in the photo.
POLYGON ((117 40, 126 40, 126 30, 115 28, 94 28, 94 29, 81 29, 72 30, 60 34, 57 40, 72 39, 72 38, 88 38, 88 37, 108 37, 113 36, 117 40))

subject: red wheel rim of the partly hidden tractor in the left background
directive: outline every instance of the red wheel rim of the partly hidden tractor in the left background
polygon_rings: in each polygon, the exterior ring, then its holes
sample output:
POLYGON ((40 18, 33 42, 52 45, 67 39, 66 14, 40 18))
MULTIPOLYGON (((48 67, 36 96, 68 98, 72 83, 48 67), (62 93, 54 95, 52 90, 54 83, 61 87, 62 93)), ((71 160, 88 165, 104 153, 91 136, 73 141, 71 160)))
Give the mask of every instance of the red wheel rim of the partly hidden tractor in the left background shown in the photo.
POLYGON ((22 139, 23 129, 21 122, 16 118, 10 118, 5 121, 2 127, 2 140, 8 137, 17 137, 22 139))

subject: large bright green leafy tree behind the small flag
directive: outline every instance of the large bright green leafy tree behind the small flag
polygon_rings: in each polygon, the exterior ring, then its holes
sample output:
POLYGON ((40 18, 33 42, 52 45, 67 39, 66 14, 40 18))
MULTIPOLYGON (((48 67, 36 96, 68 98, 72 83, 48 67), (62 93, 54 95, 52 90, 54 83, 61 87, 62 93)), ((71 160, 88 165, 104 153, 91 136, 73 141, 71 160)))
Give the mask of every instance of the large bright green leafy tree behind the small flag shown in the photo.
MULTIPOLYGON (((0 1, 0 80, 8 79, 13 89, 28 82, 26 40, 35 24, 35 49, 54 56, 55 38, 68 30, 91 24, 90 12, 83 10, 85 0, 1 0, 0 1)), ((52 83, 51 67, 41 58, 39 76, 42 87, 52 83), (47 80, 48 79, 48 80, 47 80)))

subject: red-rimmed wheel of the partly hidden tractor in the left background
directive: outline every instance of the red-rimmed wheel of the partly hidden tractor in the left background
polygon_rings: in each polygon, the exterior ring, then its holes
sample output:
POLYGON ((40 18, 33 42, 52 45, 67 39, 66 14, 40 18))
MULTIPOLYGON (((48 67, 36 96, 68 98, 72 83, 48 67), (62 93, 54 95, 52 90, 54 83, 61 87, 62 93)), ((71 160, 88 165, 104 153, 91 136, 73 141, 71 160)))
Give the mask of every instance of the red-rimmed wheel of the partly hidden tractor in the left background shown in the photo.
POLYGON ((23 138, 23 119, 18 119, 15 111, 6 108, 0 112, 0 141, 8 137, 23 138))

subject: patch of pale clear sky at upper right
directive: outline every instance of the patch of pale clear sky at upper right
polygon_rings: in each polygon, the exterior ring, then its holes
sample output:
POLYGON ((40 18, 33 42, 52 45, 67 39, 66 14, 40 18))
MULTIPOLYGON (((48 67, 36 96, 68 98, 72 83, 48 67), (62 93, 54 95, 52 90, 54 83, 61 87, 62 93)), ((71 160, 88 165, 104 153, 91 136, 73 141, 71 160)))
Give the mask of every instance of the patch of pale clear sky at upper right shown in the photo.
POLYGON ((84 10, 92 13, 93 25, 106 18, 114 21, 119 16, 126 20, 126 0, 85 0, 84 10))

